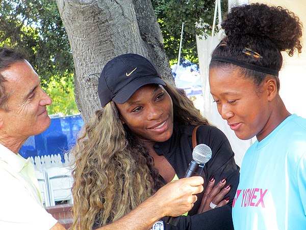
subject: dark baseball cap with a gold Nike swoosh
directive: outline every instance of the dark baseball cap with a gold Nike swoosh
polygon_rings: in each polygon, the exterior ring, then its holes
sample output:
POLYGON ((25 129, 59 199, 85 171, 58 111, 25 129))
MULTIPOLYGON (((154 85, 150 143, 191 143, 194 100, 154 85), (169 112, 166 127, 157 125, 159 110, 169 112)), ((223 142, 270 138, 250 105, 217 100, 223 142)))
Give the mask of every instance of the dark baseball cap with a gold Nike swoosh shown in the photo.
POLYGON ((166 85, 153 62, 138 54, 117 56, 104 66, 99 78, 101 106, 104 107, 111 100, 123 104, 146 84, 166 85))

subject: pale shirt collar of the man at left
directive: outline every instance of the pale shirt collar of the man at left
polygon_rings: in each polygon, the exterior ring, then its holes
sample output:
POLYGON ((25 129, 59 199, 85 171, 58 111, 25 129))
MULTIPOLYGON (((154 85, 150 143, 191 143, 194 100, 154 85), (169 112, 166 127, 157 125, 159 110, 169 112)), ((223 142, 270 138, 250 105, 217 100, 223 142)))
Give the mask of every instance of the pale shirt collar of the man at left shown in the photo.
POLYGON ((7 163, 16 172, 20 172, 29 162, 29 159, 24 159, 19 153, 16 155, 2 144, 0 144, 0 160, 7 163))

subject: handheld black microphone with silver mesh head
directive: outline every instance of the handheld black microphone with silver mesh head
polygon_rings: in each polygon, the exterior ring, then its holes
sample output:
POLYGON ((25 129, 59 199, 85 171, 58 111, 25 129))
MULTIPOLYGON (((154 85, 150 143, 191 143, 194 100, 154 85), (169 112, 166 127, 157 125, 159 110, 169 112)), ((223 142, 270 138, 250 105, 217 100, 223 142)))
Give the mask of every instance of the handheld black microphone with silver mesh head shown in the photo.
MULTIPOLYGON (((208 147, 205 144, 199 144, 195 146, 192 151, 192 160, 188 166, 188 169, 184 177, 187 178, 191 176, 202 176, 203 168, 211 157, 212 157, 212 150, 210 147, 208 147)), ((166 222, 168 224, 176 226, 177 223, 179 222, 179 216, 177 217, 170 216, 168 217, 166 222)))

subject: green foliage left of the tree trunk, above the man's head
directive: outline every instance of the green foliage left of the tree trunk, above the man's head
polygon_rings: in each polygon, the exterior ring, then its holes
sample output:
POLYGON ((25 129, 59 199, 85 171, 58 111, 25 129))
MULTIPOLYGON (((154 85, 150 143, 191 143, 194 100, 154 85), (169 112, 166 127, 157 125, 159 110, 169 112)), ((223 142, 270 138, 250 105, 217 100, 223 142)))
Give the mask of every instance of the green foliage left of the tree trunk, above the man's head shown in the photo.
POLYGON ((22 48, 53 99, 48 113, 79 113, 73 93, 73 59, 55 1, 2 0, 0 45, 22 48))

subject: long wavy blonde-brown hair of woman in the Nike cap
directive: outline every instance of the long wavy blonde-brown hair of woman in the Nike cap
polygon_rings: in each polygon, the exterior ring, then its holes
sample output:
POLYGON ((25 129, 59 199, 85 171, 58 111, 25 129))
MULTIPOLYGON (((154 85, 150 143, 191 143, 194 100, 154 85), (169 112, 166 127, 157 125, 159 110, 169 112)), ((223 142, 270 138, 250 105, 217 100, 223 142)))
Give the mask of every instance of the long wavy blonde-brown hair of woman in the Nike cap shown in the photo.
MULTIPOLYGON (((165 83, 173 102, 174 123, 209 125, 181 89, 165 83)), ((122 125, 112 101, 84 125, 70 153, 74 155, 71 229, 116 221, 163 185, 152 157, 122 125)))

